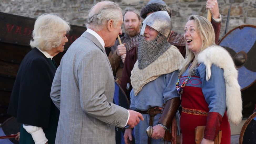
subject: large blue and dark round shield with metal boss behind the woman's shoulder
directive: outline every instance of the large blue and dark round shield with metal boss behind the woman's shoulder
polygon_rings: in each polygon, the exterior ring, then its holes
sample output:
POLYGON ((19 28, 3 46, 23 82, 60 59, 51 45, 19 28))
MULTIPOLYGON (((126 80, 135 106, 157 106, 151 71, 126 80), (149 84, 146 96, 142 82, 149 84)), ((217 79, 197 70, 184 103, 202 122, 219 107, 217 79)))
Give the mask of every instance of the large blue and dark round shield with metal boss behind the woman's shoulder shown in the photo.
POLYGON ((256 26, 241 25, 229 31, 218 43, 233 57, 242 91, 256 81, 256 26))

